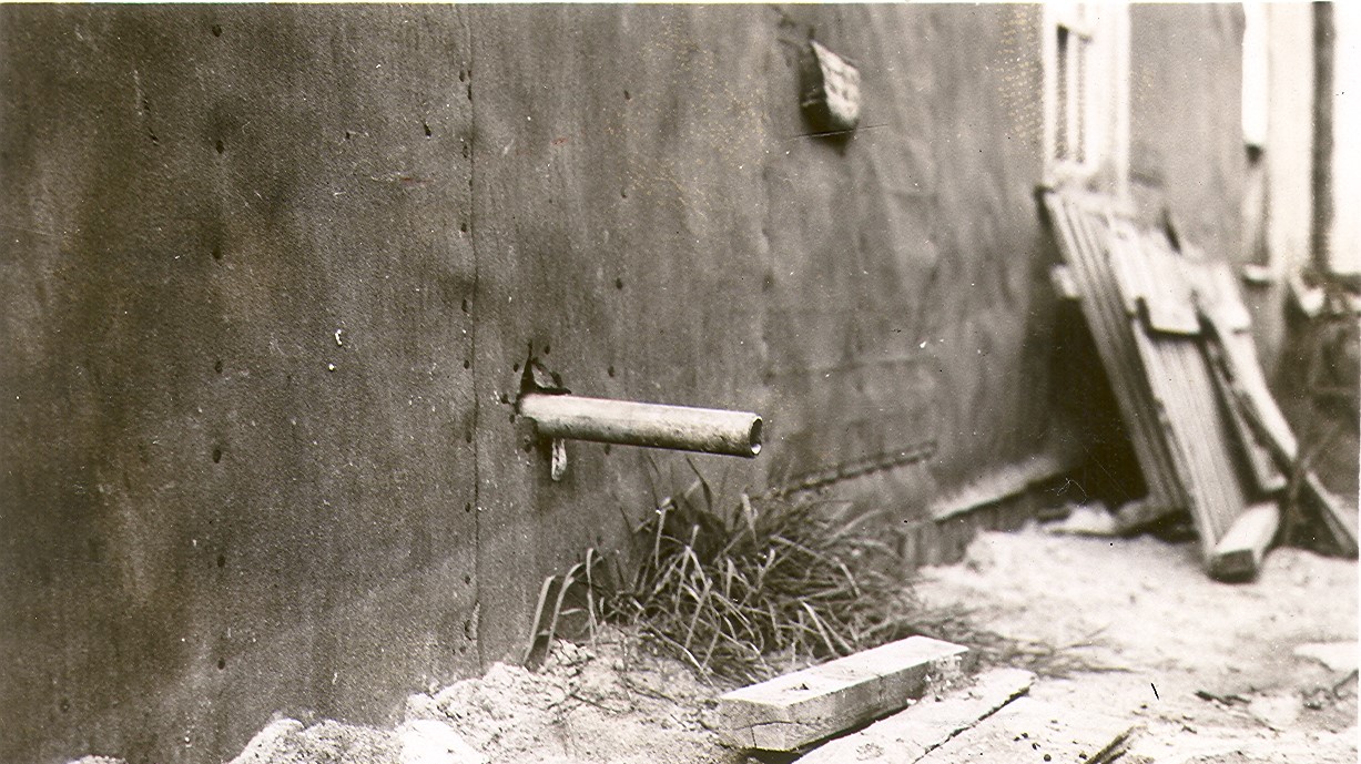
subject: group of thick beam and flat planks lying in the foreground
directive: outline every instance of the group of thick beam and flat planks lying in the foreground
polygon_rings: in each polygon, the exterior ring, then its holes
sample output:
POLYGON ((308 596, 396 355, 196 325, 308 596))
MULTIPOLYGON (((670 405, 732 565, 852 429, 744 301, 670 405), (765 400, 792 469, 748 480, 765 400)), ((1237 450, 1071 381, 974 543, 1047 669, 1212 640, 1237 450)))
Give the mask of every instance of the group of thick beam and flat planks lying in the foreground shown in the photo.
POLYGON ((965 647, 913 636, 729 692, 717 726, 729 745, 803 753, 802 764, 1101 764, 1136 729, 1028 697, 1030 672, 970 678, 972 665, 965 647))

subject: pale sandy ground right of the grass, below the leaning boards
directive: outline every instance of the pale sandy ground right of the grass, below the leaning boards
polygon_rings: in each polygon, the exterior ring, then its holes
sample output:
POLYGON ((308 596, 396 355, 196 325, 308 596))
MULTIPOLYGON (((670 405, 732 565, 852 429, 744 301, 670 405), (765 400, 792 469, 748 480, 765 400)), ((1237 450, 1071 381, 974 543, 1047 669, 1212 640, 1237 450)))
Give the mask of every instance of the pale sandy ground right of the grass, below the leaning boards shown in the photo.
POLYGON ((1224 585, 1202 574, 1194 541, 1028 529, 983 534, 962 564, 921 571, 917 590, 1108 667, 1032 695, 1138 719, 1130 760, 1357 761, 1356 561, 1275 549, 1259 580, 1224 585))

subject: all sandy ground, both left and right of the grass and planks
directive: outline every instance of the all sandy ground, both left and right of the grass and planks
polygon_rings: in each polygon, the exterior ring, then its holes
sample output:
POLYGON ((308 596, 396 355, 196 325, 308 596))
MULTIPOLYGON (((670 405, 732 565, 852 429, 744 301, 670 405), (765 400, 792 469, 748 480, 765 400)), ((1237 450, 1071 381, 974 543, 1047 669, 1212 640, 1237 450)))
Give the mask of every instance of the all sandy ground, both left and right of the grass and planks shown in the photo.
MULTIPOLYGON (((1258 582, 1224 585, 1196 557, 1194 541, 1030 526, 981 534, 913 586, 935 612, 1082 666, 1030 693, 1141 723, 1126 761, 1356 763, 1357 563, 1277 549, 1258 582)), ((604 628, 538 672, 497 665, 414 695, 397 729, 279 719, 234 764, 738 764, 706 725, 725 689, 604 628)))

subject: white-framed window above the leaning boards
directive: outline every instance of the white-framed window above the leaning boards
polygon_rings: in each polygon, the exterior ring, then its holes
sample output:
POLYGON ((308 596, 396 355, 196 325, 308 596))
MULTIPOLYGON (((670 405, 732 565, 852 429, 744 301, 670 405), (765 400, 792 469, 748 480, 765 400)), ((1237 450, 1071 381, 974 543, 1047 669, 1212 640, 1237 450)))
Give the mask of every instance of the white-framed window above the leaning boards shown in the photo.
POLYGON ((1124 197, 1130 155, 1130 10, 1044 7, 1044 147, 1049 185, 1108 186, 1124 197))

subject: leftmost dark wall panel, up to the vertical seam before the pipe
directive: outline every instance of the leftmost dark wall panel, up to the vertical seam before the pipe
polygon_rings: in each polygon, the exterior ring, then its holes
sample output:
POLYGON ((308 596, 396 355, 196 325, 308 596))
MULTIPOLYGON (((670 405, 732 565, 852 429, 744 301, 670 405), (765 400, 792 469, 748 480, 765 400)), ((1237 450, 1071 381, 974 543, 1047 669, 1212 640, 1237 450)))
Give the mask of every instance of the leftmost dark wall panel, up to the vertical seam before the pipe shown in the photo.
POLYGON ((476 670, 461 11, 0 34, 0 760, 207 761, 476 670))

